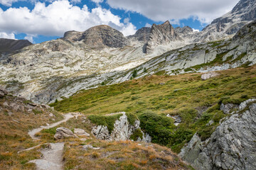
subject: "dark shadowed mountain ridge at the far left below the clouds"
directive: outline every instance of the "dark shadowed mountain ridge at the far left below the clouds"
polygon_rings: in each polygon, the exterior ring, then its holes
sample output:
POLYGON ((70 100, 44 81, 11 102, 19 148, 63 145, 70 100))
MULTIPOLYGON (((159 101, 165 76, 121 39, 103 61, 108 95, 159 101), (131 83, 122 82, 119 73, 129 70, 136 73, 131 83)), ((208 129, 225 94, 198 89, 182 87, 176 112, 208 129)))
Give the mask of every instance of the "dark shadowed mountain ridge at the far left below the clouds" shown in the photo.
POLYGON ((32 45, 32 43, 28 40, 11 40, 0 38, 0 52, 14 52, 23 47, 27 47, 28 45, 32 45))

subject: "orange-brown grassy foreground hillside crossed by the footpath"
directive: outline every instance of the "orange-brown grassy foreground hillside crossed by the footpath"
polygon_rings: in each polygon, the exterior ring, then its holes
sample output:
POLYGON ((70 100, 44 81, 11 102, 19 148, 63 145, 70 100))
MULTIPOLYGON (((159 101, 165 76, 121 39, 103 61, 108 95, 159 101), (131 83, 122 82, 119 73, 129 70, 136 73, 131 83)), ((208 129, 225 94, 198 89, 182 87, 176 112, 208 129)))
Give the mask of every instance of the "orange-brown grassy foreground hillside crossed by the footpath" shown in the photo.
POLYGON ((84 115, 67 117, 6 92, 0 115, 0 169, 191 169, 171 149, 151 143, 106 142, 93 135, 54 140, 58 127, 91 134, 92 123, 84 115))

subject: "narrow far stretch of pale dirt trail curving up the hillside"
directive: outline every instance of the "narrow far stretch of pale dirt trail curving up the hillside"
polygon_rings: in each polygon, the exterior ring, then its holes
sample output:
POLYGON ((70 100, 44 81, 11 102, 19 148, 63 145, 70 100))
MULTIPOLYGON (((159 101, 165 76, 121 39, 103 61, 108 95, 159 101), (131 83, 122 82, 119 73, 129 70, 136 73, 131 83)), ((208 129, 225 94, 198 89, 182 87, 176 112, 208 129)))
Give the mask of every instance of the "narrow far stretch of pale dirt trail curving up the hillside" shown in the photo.
POLYGON ((78 117, 78 115, 81 115, 81 114, 80 113, 68 113, 68 114, 64 115, 63 120, 60 120, 59 122, 53 123, 51 125, 41 126, 40 128, 33 129, 33 130, 28 132, 28 135, 31 136, 31 138, 33 140, 40 140, 38 137, 35 136, 36 133, 40 132, 43 129, 54 128, 55 126, 60 125, 60 123, 64 123, 64 122, 68 121, 70 118, 78 117))

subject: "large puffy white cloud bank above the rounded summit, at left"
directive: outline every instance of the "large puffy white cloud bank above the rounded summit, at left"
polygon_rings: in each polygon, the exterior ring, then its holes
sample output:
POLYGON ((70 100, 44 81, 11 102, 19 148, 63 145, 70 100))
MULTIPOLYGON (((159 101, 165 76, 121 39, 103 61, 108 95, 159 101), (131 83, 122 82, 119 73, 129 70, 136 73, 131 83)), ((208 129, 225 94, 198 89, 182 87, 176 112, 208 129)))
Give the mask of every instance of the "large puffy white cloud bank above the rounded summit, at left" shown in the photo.
POLYGON ((132 23, 121 23, 120 20, 119 16, 100 6, 89 11, 87 6, 73 6, 67 0, 54 1, 48 6, 38 2, 32 11, 26 7, 6 11, 0 8, 0 32, 27 35, 63 36, 68 30, 84 31, 102 24, 112 26, 124 35, 136 32, 132 23))

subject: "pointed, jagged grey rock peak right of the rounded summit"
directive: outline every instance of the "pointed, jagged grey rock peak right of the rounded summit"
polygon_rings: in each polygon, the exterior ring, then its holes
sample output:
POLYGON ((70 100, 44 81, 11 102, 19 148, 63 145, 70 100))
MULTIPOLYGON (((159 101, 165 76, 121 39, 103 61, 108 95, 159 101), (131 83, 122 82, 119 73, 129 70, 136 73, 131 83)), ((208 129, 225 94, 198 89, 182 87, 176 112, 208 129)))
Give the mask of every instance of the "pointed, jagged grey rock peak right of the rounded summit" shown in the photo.
POLYGON ((169 21, 166 21, 161 25, 153 24, 149 35, 149 41, 146 44, 146 53, 153 52, 154 47, 157 45, 166 45, 176 40, 181 40, 181 38, 169 21))

